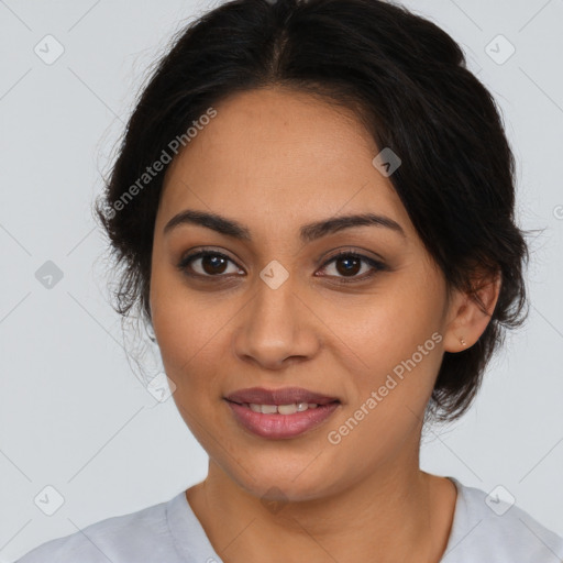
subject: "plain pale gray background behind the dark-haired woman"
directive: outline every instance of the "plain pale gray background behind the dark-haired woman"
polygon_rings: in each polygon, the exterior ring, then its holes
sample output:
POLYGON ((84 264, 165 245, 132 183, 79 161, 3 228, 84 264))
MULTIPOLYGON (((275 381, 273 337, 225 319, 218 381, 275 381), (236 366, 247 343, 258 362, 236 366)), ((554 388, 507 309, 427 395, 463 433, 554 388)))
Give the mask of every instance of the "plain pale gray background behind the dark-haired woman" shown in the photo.
MULTIPOLYGON (((206 475, 173 399, 156 400, 128 363, 90 206, 146 67, 217 4, 0 0, 0 562, 206 475), (47 34, 65 49, 51 65, 34 52, 56 54, 47 34), (51 288, 35 276, 47 261, 63 273, 51 288), (64 504, 47 516, 57 494, 64 504)), ((471 412, 429 432, 422 467, 487 492, 503 485, 563 534, 563 2, 405 4, 453 35, 494 92, 518 159, 520 223, 541 229, 529 323, 508 338, 471 412)))

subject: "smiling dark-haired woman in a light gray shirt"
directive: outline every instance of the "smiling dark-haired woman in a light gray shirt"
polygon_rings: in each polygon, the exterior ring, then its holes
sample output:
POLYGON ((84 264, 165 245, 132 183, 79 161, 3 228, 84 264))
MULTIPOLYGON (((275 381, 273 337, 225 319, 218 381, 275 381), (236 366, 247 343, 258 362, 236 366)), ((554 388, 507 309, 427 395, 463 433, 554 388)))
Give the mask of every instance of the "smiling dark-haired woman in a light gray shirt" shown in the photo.
POLYGON ((234 0, 183 31, 98 212, 209 473, 20 562, 561 560, 419 467, 525 317, 514 167, 460 47, 405 9, 234 0))

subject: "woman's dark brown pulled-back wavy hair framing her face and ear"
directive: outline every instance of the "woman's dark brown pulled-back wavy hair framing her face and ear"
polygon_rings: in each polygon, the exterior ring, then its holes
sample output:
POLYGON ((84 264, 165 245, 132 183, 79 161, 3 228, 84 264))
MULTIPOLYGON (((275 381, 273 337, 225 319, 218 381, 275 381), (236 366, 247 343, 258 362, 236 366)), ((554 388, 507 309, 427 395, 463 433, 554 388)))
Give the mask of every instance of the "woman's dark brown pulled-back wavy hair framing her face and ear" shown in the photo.
POLYGON ((353 109, 377 146, 399 155, 389 180, 450 288, 471 291, 476 271, 500 273, 487 329, 471 349, 444 354, 427 409, 454 420, 473 401, 503 329, 526 317, 528 250, 515 224, 515 162, 494 98, 450 35, 399 5, 232 0, 173 37, 96 207, 120 268, 115 310, 139 307, 151 322, 153 229, 167 164, 150 181, 140 178, 165 162, 173 140, 186 144, 187 129, 210 107, 264 87, 353 109))

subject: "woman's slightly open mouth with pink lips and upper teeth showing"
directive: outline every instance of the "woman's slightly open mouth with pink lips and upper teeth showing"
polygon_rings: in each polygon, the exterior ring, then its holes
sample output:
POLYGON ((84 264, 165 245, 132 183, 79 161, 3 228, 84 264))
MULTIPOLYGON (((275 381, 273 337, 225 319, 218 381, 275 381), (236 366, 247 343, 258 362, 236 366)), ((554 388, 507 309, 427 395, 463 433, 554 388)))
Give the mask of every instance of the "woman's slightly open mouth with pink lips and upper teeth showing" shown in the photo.
POLYGON ((325 422, 341 401, 299 387, 241 389, 224 397, 235 420, 254 435, 296 438, 325 422))

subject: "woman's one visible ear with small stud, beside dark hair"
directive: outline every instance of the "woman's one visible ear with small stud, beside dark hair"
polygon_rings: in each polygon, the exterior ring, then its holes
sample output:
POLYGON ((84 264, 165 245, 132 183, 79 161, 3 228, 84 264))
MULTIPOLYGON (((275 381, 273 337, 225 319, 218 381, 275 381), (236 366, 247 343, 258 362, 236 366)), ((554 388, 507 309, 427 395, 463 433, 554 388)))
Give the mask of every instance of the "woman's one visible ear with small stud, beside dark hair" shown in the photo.
POLYGON ((482 272, 473 276, 471 291, 453 290, 444 332, 446 352, 462 352, 477 342, 495 310, 500 284, 500 272, 482 272))

